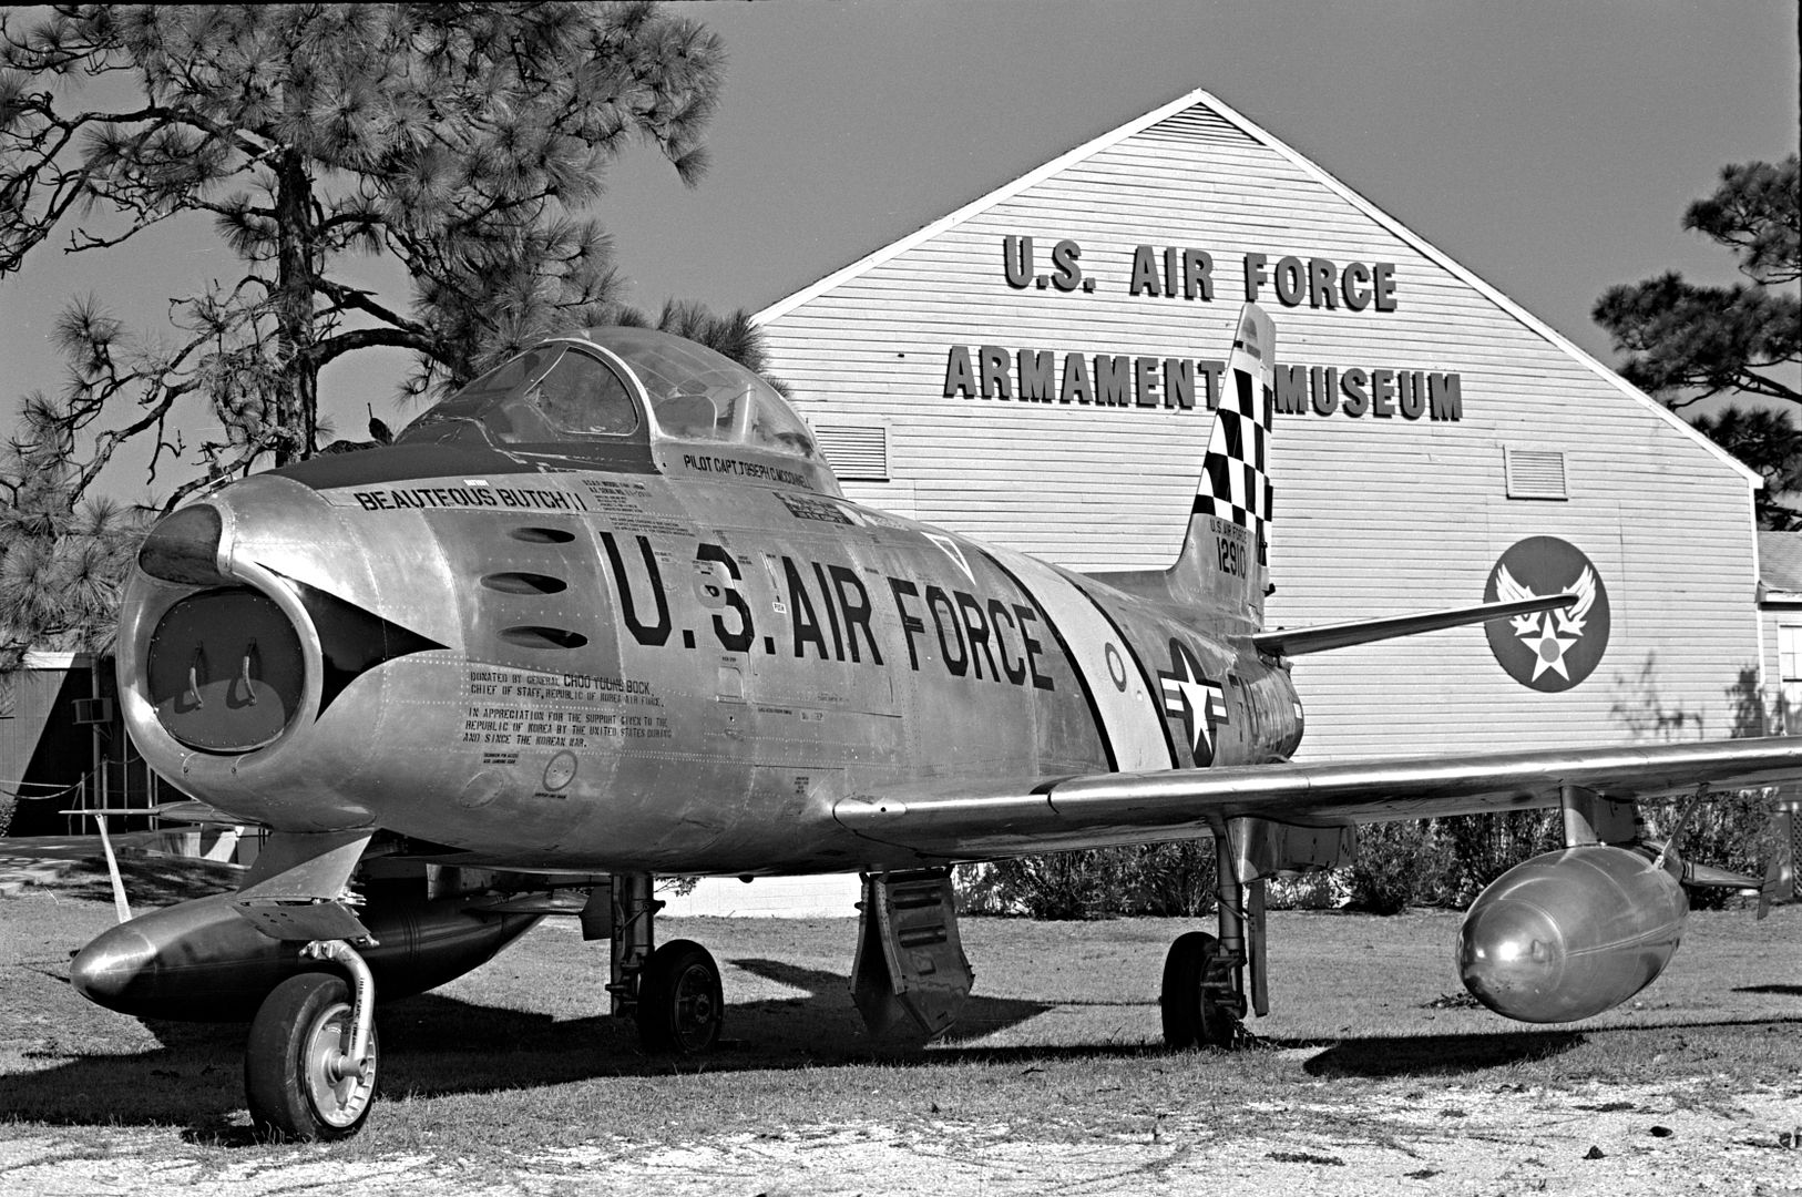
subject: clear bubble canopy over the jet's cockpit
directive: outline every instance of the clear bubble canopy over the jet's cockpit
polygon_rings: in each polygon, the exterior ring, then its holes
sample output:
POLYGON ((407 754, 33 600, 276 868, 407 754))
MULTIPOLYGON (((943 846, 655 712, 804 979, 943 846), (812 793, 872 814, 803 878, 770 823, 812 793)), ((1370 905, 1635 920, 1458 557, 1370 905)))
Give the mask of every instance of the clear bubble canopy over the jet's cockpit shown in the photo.
POLYGON ((400 443, 479 436, 519 449, 678 442, 822 463, 782 395, 705 344, 651 328, 589 328, 546 341, 436 404, 400 443))

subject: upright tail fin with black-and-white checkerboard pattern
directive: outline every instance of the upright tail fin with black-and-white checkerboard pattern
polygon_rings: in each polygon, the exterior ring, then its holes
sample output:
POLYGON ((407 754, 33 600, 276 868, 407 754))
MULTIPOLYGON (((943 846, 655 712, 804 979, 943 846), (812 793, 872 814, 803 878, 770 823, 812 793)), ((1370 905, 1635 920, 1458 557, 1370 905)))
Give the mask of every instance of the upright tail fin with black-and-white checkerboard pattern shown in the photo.
POLYGON ((1240 308, 1222 382, 1189 534, 1168 586, 1188 604, 1258 629, 1269 579, 1276 326, 1256 303, 1240 308))

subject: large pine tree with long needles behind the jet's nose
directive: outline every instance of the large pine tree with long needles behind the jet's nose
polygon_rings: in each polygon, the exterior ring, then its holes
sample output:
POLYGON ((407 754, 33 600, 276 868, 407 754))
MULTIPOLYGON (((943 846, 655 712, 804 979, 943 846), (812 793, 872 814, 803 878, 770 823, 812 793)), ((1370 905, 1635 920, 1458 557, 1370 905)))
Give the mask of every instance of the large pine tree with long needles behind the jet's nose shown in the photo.
POLYGON ((427 395, 546 332, 640 323, 587 209, 634 142, 699 178, 723 69, 714 34, 652 4, 58 5, 20 23, 0 23, 0 279, 47 245, 105 252, 191 216, 241 261, 171 301, 177 344, 94 301, 63 315, 70 382, 31 398, 47 442, 25 449, 59 449, 70 510, 126 440, 155 436, 153 478, 186 452, 184 400, 227 436, 171 503, 315 452, 319 371, 346 353, 413 350, 404 388, 427 395), (128 99, 85 106, 94 90, 128 99), (360 254, 396 260, 411 296, 346 283, 360 254))

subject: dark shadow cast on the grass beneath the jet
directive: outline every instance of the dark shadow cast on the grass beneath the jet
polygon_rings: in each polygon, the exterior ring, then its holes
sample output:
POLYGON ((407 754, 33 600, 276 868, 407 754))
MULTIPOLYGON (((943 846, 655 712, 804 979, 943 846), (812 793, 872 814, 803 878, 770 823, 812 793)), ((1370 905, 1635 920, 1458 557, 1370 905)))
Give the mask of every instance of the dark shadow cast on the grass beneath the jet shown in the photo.
MULTIPOLYGON (((703 1060, 645 1055, 631 1020, 604 1015, 557 1019, 438 993, 384 1002, 380 1091, 389 1098, 440 1098, 544 1089, 602 1078, 732 1074, 883 1064, 939 1069, 959 1065, 1043 1067, 1085 1060, 1159 1060, 1146 1044, 980 1046, 980 1037, 1018 1026, 1058 1002, 971 997, 960 1029, 921 1051, 917 1044, 878 1044, 865 1033, 849 977, 771 959, 735 966, 798 990, 732 1004, 726 1040, 703 1060)), ((596 1004, 605 1001, 595 991, 596 1004)), ((1770 1022, 1770 1020, 1766 1020, 1770 1022)), ((58 1047, 58 1062, 13 1074, 0 1085, 0 1125, 166 1125, 211 1147, 245 1147, 243 1024, 146 1022, 157 1047, 130 1055, 81 1055, 58 1047)), ((1716 1024, 1697 1024, 1716 1026, 1716 1024)), ((1725 1024, 1723 1024, 1725 1026, 1725 1024)), ((1263 1040, 1265 1047, 1324 1047, 1301 1067, 1312 1076, 1458 1076, 1564 1055, 1588 1037, 1575 1031, 1515 1031, 1436 1037, 1263 1040)))

